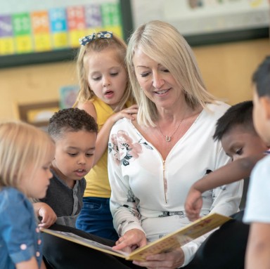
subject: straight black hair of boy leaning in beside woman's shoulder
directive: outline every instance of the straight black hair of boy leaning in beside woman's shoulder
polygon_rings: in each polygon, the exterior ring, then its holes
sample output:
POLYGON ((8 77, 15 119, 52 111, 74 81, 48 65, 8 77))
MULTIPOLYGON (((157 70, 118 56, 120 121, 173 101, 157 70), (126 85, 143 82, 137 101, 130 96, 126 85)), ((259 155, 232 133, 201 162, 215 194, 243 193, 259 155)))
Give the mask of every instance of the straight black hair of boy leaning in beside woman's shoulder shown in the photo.
POLYGON ((221 140, 226 133, 229 133, 236 126, 241 126, 243 129, 256 133, 252 121, 252 109, 253 103, 251 100, 231 106, 217 120, 214 140, 221 140))

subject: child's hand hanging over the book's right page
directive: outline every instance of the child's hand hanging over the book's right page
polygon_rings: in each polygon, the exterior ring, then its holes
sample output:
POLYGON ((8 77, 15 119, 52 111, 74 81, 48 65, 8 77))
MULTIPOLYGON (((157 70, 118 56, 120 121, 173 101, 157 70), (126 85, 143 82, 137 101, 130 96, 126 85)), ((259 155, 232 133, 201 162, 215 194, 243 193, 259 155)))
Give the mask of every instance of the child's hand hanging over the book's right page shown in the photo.
POLYGON ((190 221, 200 218, 200 209, 203 206, 203 198, 200 191, 191 186, 185 202, 186 216, 190 221))

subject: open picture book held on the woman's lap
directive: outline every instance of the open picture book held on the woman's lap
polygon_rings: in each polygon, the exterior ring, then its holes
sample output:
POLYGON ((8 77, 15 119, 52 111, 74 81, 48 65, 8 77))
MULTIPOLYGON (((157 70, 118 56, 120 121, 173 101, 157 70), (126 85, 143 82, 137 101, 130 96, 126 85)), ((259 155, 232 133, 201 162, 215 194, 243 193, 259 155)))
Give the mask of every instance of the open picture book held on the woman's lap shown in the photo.
POLYGON ((226 221, 229 221, 230 219, 231 218, 227 216, 222 216, 216 213, 209 214, 207 216, 199 218, 197 221, 194 221, 193 223, 186 225, 184 228, 176 230, 175 232, 172 232, 169 235, 165 235, 164 237, 160 238, 159 240, 156 240, 155 242, 151 242, 144 247, 135 249, 131 253, 114 250, 112 247, 108 247, 104 244, 100 244, 92 240, 88 240, 86 238, 75 235, 72 232, 60 232, 45 228, 42 228, 41 231, 47 232, 57 237, 61 237, 65 240, 70 240, 77 244, 82 244, 92 249, 97 249, 99 251, 103 251, 108 254, 125 258, 127 260, 145 261, 146 256, 149 256, 150 254, 167 252, 170 251, 171 249, 183 246, 184 244, 191 242, 195 238, 198 238, 201 235, 205 235, 205 233, 214 230, 215 228, 219 227, 223 223, 226 223, 226 221))

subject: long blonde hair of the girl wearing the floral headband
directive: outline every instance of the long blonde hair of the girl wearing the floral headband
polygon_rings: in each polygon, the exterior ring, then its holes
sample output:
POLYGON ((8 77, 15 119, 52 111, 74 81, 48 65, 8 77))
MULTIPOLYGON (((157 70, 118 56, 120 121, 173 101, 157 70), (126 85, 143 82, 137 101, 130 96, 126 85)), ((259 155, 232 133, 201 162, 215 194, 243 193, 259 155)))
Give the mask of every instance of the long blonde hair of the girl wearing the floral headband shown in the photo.
MULTIPOLYGON (((77 103, 85 103, 87 100, 90 100, 91 98, 96 96, 88 83, 87 60, 89 60, 90 53, 93 53, 95 51, 100 52, 106 48, 115 48, 115 51, 118 54, 119 62, 123 65, 124 70, 126 70, 127 72, 127 65, 124 60, 127 51, 127 44, 125 44, 124 41, 120 39, 120 37, 117 37, 115 34, 113 34, 112 38, 94 39, 85 46, 81 46, 81 48, 79 49, 79 53, 77 55, 77 75, 79 80, 79 93, 75 105, 77 105, 77 103)), ((127 100, 132 100, 132 91, 128 75, 127 75, 126 91, 124 91, 124 96, 122 96, 122 100, 120 101, 120 104, 116 107, 115 110, 122 110, 124 104, 127 103, 127 100)))

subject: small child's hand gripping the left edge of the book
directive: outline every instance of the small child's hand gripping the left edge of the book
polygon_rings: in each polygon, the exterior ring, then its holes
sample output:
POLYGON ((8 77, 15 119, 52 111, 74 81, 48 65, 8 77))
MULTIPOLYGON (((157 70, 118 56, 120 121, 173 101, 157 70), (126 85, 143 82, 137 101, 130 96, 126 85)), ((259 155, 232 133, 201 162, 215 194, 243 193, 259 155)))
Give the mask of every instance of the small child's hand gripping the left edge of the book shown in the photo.
POLYGON ((41 217, 41 223, 39 227, 49 228, 53 223, 56 222, 57 216, 49 204, 43 202, 36 202, 33 204, 34 213, 37 217, 41 217))

